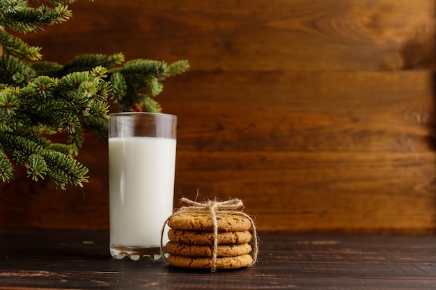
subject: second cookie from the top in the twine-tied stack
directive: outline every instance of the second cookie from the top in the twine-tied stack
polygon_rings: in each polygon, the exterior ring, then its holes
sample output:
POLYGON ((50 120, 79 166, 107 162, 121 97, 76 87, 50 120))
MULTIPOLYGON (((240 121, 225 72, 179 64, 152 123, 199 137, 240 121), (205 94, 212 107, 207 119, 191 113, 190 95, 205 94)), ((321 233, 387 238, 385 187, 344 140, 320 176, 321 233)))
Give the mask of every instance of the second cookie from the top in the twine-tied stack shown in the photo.
MULTIPOLYGON (((179 229, 169 229, 168 238, 177 243, 189 243, 191 245, 213 245, 215 239, 213 232, 184 231, 179 229)), ((250 241, 251 233, 249 231, 218 233, 219 245, 249 243, 250 241)))

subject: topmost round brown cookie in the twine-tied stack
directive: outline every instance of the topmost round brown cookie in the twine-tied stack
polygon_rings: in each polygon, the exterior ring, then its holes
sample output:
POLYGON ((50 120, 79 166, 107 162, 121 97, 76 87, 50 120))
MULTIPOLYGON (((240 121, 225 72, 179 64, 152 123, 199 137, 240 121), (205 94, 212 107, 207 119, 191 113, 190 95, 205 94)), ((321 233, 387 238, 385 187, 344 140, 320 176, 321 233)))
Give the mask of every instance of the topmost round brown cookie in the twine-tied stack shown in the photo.
MULTIPOLYGON (((168 225, 172 229, 213 231, 211 214, 178 214, 168 220, 168 225)), ((218 232, 240 232, 250 229, 251 222, 248 218, 238 214, 217 214, 217 225, 218 232)))

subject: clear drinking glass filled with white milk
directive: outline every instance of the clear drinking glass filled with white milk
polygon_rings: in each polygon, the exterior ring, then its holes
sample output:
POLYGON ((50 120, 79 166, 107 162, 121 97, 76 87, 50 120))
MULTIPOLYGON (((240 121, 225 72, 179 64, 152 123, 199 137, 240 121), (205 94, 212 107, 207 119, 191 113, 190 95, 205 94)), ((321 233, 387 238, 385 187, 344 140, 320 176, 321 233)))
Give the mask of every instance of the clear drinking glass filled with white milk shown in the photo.
POLYGON ((134 112, 109 117, 111 255, 159 259, 162 226, 173 212, 177 117, 134 112))

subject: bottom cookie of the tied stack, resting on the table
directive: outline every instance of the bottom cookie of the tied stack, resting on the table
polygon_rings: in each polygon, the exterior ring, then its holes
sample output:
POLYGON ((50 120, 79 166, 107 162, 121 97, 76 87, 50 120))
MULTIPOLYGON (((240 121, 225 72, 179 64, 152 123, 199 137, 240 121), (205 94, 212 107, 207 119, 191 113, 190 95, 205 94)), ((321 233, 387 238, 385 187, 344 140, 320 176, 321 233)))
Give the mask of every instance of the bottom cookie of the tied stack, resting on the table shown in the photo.
MULTIPOLYGON (((166 258, 169 264, 181 268, 208 269, 212 266, 212 258, 184 257, 169 255, 166 258)), ((251 266, 253 257, 241 255, 237 257, 220 257, 215 261, 217 269, 236 269, 251 266)))

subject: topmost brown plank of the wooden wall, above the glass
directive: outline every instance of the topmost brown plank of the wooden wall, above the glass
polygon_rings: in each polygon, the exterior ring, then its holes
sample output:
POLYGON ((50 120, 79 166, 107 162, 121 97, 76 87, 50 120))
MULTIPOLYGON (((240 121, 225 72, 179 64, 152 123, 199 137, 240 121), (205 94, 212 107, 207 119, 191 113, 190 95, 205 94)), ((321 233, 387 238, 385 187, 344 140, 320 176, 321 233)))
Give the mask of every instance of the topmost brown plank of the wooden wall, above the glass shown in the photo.
POLYGON ((433 1, 79 1, 61 26, 26 35, 61 63, 77 54, 175 61, 194 70, 433 67, 433 1), (98 41, 94 41, 98 40, 98 41))

